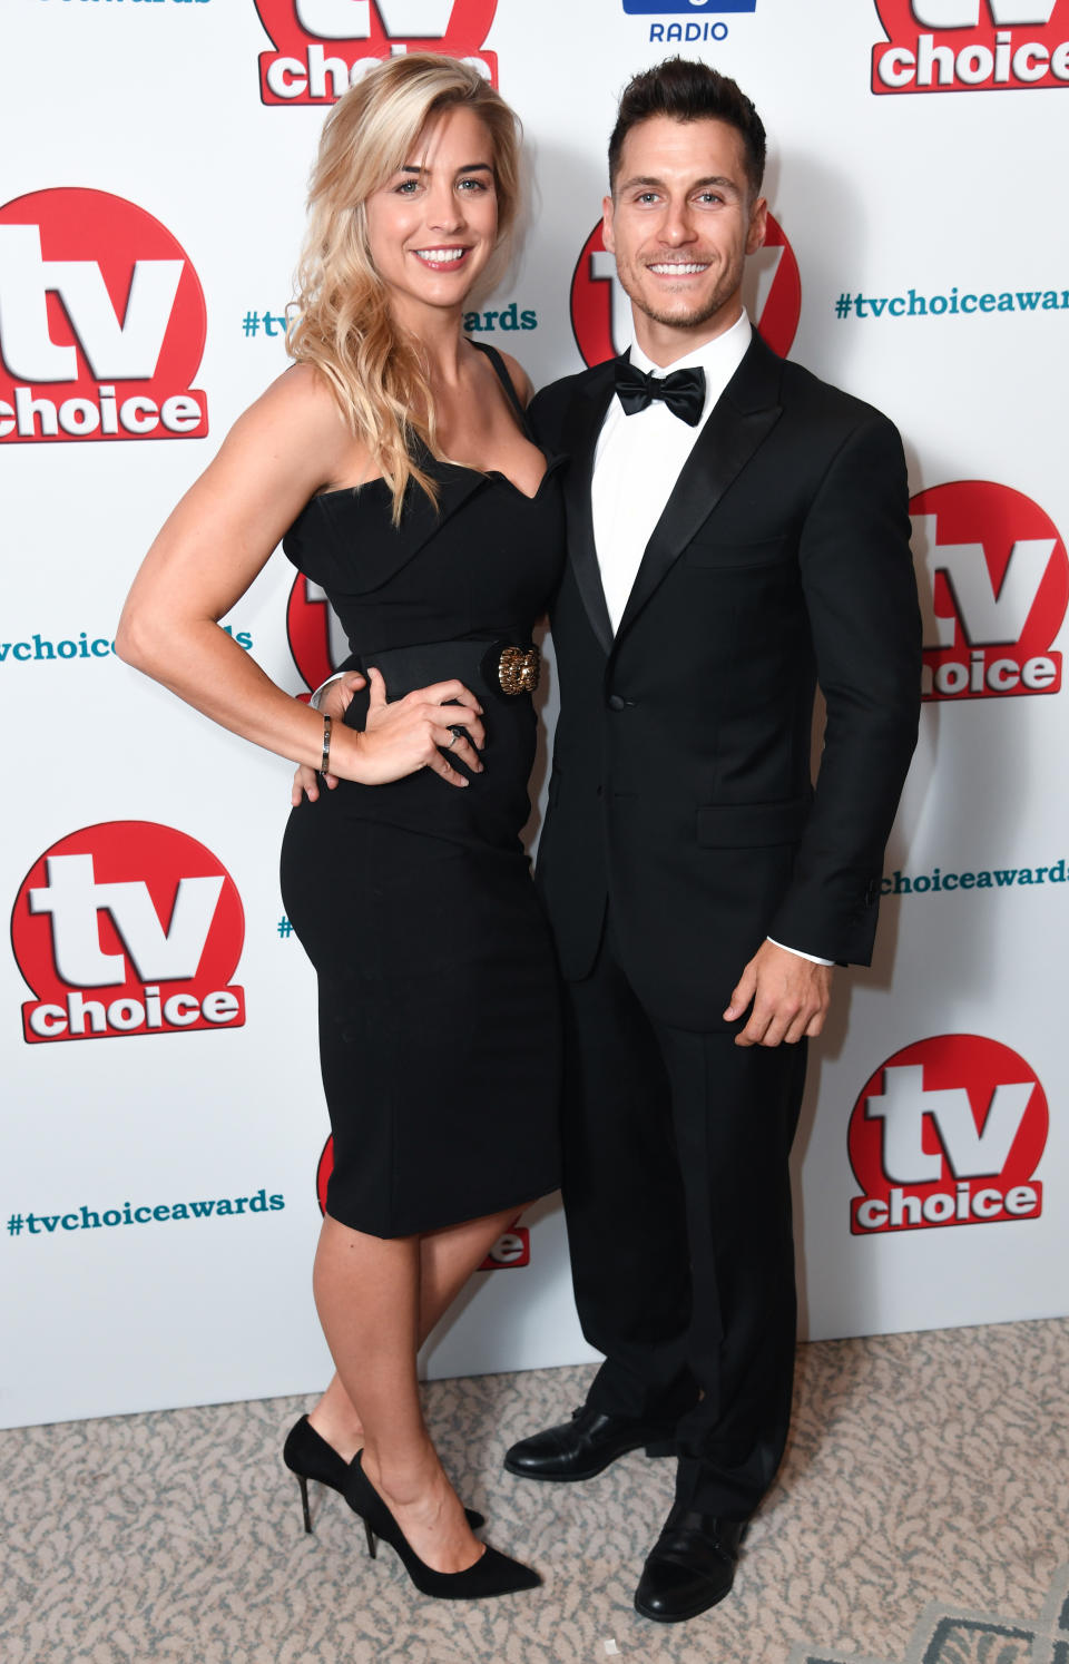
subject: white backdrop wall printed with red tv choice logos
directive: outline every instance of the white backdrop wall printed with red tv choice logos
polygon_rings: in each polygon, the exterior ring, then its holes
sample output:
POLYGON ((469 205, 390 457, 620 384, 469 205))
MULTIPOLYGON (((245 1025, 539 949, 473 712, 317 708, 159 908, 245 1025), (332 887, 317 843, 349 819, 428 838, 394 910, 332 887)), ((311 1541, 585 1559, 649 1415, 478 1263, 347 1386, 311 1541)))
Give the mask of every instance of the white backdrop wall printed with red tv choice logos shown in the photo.
MULTIPOLYGON (((537 384, 627 343, 590 245, 623 82, 678 42, 761 110, 778 231, 751 305, 906 438, 933 696, 876 965, 840 973, 815 1048, 803 1333, 1067 1310, 1047 1108, 1069 1087, 1069 0, 8 0, 0 1424, 311 1391, 329 1368, 314 985, 276 875, 289 770, 110 641, 160 521, 284 368, 309 90, 421 30, 525 121, 530 236, 472 328, 537 384)), ((318 679, 324 609, 281 554, 228 624, 283 687, 318 679)), ((559 1210, 527 1225, 431 1373, 590 1356, 559 1210)))

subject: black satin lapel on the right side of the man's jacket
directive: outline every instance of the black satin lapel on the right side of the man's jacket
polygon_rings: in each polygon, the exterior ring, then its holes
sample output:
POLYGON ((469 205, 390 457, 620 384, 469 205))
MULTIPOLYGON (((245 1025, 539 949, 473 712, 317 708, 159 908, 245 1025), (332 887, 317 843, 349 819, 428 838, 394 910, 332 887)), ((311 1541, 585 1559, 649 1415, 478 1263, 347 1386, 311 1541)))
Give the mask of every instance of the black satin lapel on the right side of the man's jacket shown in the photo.
POLYGON ((780 419, 780 368, 781 361, 755 334, 746 356, 710 411, 650 534, 617 641, 780 419))

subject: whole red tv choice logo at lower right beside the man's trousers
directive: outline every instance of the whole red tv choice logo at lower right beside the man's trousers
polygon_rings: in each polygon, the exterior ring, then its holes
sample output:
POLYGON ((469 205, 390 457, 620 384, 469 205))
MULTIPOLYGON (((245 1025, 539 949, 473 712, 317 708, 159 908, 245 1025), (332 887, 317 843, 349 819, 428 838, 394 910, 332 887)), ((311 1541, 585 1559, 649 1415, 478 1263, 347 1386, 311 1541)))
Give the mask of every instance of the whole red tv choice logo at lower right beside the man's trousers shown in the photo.
POLYGON ((1042 1213, 1046 1093, 1029 1063, 983 1035, 936 1035, 881 1063, 850 1117, 863 1195, 855 1236, 1006 1225, 1042 1213))

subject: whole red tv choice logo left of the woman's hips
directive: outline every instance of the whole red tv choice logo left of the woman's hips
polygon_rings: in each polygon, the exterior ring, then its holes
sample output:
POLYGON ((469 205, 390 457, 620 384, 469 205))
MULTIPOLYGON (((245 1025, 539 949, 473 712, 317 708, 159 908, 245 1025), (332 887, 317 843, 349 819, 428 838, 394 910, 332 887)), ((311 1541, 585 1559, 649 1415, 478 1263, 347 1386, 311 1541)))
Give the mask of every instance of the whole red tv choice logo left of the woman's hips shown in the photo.
POLYGON ((105 820, 60 839, 23 879, 12 947, 37 995, 23 1035, 96 1040, 239 1028, 231 983, 244 942, 238 887, 196 839, 105 820))

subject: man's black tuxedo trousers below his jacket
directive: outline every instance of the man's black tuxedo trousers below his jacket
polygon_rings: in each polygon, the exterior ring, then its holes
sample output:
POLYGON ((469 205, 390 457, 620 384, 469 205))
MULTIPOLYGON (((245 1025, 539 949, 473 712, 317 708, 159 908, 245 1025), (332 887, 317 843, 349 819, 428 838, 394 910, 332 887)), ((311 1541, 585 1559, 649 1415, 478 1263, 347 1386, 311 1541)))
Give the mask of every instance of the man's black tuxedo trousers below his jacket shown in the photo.
POLYGON ((677 1499, 725 1519, 753 1513, 786 1441, 805 1052, 653 1022, 608 925, 565 985, 564 1208, 605 1353, 589 1404, 675 1419, 677 1499))

